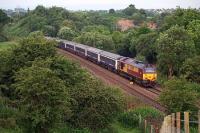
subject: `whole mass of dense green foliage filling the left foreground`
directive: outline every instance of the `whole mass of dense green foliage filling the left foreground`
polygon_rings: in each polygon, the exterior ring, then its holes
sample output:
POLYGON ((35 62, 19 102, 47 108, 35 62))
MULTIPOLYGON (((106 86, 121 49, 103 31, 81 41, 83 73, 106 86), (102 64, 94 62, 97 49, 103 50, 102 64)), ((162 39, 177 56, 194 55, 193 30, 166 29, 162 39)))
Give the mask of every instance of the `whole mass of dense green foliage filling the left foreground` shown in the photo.
POLYGON ((5 122, 0 127, 49 132, 63 123, 96 131, 124 109, 122 93, 58 56, 55 42, 40 32, 1 51, 0 59, 0 99, 9 101, 0 101, 0 120, 5 122))

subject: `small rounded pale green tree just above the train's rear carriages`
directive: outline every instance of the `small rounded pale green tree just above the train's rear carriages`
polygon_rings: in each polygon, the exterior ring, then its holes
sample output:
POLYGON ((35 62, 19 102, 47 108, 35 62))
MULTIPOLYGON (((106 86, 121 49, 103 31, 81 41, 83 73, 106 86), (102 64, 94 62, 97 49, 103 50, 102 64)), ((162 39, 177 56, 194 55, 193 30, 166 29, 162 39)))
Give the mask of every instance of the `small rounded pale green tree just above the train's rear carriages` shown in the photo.
POLYGON ((58 36, 62 39, 71 41, 76 36, 76 32, 69 27, 62 27, 58 32, 58 36))

